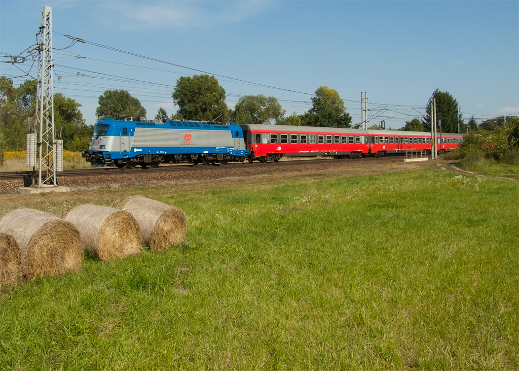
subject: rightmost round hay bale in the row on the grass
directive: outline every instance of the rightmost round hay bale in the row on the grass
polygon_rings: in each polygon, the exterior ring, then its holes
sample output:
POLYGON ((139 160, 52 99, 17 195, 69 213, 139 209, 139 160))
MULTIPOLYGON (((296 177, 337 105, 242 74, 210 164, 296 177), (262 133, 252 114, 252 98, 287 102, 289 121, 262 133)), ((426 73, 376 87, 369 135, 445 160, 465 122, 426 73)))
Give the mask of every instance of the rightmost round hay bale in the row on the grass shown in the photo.
POLYGON ((143 196, 128 197, 119 208, 137 220, 143 242, 154 253, 180 244, 186 237, 186 216, 179 208, 143 196))

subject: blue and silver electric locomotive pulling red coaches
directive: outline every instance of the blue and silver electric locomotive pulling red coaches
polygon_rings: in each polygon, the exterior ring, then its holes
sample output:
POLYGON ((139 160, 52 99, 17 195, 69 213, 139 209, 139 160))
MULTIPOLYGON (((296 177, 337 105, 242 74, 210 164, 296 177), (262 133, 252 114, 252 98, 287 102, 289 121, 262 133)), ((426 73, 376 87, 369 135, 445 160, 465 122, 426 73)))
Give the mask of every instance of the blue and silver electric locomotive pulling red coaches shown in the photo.
POLYGON ((88 151, 92 166, 158 167, 162 163, 226 164, 248 155, 238 125, 198 121, 126 121, 103 118, 95 124, 88 151))

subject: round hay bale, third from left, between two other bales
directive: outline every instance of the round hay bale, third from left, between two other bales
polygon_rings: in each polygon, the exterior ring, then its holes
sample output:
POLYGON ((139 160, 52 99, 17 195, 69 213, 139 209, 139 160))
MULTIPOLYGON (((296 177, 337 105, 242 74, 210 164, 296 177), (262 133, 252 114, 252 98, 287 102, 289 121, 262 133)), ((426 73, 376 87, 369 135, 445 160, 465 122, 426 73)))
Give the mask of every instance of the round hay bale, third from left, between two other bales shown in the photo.
POLYGON ((102 261, 142 253, 141 233, 126 211, 98 205, 81 205, 69 211, 65 220, 79 230, 81 242, 102 261))

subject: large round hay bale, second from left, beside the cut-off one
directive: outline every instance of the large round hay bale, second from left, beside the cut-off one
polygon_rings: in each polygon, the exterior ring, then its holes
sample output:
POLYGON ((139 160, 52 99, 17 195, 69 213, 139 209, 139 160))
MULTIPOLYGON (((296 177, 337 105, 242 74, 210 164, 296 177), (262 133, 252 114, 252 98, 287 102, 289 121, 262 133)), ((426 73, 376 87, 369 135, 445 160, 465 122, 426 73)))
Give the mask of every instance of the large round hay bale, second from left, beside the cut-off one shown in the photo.
POLYGON ((11 235, 18 243, 22 273, 29 281, 77 270, 83 261, 77 229, 44 211, 12 210, 0 219, 0 233, 11 235))

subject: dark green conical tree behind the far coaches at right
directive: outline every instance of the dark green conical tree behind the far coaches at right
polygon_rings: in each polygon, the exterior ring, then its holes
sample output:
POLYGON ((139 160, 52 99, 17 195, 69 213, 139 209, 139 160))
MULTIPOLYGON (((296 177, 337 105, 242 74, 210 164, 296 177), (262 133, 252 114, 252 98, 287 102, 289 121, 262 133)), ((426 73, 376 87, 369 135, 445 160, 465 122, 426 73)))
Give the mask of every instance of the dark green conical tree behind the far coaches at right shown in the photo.
POLYGON ((440 91, 436 88, 431 99, 427 102, 426 114, 422 119, 422 124, 426 131, 431 131, 431 102, 436 99, 436 120, 438 121, 438 132, 458 132, 458 123, 461 124, 462 114, 459 114, 459 105, 456 99, 447 91, 440 91))

